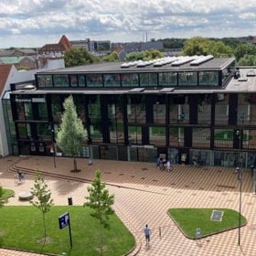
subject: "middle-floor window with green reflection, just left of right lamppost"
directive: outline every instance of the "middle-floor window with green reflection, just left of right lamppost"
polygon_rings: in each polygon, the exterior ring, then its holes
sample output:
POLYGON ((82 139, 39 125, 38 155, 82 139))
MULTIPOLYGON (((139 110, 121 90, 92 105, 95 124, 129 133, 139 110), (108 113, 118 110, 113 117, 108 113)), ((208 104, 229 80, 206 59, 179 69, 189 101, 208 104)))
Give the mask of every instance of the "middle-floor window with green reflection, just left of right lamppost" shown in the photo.
POLYGON ((214 146, 233 148, 234 131, 230 129, 215 129, 214 146))

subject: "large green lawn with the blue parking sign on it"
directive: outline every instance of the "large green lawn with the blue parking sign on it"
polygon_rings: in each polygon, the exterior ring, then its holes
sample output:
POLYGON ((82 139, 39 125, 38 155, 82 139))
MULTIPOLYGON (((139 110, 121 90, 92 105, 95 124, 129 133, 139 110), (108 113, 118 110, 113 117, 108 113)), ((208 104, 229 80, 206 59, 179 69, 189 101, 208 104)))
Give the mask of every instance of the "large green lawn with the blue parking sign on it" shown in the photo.
MULTIPOLYGON (((90 213, 90 208, 80 206, 53 206, 46 215, 47 243, 43 246, 42 213, 33 206, 5 206, 0 209, 0 247, 57 255, 99 255, 99 222, 90 213), (69 212, 72 248, 69 227, 59 229, 59 216, 65 212, 69 212)), ((103 255, 120 256, 132 250, 133 235, 116 215, 111 216, 110 226, 103 232, 103 255)))

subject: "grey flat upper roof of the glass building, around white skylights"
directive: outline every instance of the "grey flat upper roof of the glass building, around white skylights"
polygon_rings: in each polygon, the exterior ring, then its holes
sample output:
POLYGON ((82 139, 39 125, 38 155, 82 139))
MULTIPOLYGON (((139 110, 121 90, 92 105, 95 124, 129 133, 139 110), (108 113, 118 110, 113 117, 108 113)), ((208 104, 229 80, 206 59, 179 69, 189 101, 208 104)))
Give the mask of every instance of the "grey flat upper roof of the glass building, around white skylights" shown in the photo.
POLYGON ((212 58, 198 65, 191 65, 191 61, 175 65, 173 63, 166 63, 162 66, 156 66, 155 64, 134 64, 123 68, 123 64, 129 64, 131 62, 104 62, 100 64, 89 64, 77 67, 70 67, 65 69, 54 69, 46 71, 45 73, 57 74, 57 73, 133 73, 133 72, 170 72, 170 71, 193 71, 193 70, 222 70, 228 67, 234 58, 212 58))

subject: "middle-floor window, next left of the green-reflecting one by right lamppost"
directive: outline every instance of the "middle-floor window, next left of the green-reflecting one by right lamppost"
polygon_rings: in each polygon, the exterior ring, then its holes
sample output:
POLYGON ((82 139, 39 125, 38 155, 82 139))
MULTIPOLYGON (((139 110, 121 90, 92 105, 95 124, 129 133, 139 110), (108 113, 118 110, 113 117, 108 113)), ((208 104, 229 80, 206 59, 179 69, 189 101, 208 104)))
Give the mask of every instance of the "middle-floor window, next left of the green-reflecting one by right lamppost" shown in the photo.
POLYGON ((210 129, 193 128, 192 146, 193 147, 209 147, 210 146, 210 129))

